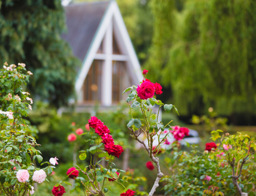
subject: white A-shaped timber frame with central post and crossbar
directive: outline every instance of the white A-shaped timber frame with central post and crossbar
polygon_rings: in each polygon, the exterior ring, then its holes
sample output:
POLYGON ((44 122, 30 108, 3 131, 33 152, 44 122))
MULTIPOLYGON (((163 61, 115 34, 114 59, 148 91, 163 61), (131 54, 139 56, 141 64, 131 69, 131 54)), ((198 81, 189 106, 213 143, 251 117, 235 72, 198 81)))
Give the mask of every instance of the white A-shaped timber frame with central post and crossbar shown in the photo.
POLYGON ((139 84, 143 79, 141 67, 133 48, 132 42, 125 27, 122 15, 116 1, 111 0, 101 19, 98 29, 86 53, 82 67, 76 79, 75 88, 78 95, 82 95, 82 87, 85 77, 93 60, 103 60, 101 104, 112 105, 112 62, 125 61, 127 73, 134 84, 139 84), (113 54, 113 34, 118 43, 121 55, 113 54), (103 41, 103 54, 97 53, 103 41))

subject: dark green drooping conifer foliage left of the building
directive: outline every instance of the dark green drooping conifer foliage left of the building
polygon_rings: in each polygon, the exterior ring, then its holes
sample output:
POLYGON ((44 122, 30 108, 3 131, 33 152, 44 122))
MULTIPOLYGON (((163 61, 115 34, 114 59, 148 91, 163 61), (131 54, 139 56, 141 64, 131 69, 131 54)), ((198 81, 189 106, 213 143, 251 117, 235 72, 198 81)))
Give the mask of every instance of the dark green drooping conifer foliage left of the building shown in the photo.
POLYGON ((25 61, 34 73, 31 94, 57 107, 73 95, 80 65, 60 37, 64 30, 60 0, 0 0, 0 64, 25 61))

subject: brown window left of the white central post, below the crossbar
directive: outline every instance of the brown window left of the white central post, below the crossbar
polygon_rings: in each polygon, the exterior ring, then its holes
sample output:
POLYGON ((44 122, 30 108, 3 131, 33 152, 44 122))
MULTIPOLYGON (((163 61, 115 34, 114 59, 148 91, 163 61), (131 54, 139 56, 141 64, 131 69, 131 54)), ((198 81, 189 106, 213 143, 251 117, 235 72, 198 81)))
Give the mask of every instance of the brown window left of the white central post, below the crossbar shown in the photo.
POLYGON ((102 80, 102 61, 94 60, 84 82, 84 102, 100 101, 102 80))

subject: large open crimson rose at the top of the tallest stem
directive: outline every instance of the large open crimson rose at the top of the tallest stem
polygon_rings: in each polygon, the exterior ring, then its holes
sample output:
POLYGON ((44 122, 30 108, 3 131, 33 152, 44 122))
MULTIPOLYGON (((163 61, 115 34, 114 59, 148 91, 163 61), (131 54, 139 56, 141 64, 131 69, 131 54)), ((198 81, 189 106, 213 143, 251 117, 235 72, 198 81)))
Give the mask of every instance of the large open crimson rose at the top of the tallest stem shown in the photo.
POLYGON ((138 96, 141 99, 152 98, 155 94, 154 83, 149 81, 144 81, 140 86, 138 85, 137 92, 138 92, 138 96))

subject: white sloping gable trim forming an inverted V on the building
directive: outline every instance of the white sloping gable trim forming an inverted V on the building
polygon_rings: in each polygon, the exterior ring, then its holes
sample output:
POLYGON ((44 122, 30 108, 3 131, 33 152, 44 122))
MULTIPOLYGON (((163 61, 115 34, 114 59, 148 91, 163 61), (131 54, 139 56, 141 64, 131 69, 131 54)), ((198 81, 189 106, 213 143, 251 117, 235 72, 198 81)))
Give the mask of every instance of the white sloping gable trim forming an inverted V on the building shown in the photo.
POLYGON ((122 41, 126 47, 127 57, 130 59, 130 65, 132 65, 133 71, 135 72, 135 75, 136 75, 136 79, 138 82, 142 81, 142 79, 143 79, 141 67, 140 67, 138 58, 136 56, 135 50, 133 48, 131 39, 130 39, 127 29, 125 27, 122 15, 120 13, 120 10, 118 8, 116 1, 112 0, 112 1, 110 1, 102 19, 101 19, 99 27, 94 35, 94 38, 90 44, 87 54, 85 55, 85 59, 82 63, 82 68, 80 69, 80 72, 78 74, 76 84, 75 84, 77 93, 80 92, 80 90, 84 84, 85 77, 89 71, 90 65, 92 64, 93 60, 96 59, 95 57, 97 55, 96 54, 97 50, 100 46, 101 41, 104 38, 104 35, 107 31, 108 26, 112 22, 113 17, 117 24, 118 30, 120 31, 122 41))

